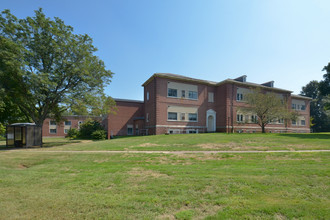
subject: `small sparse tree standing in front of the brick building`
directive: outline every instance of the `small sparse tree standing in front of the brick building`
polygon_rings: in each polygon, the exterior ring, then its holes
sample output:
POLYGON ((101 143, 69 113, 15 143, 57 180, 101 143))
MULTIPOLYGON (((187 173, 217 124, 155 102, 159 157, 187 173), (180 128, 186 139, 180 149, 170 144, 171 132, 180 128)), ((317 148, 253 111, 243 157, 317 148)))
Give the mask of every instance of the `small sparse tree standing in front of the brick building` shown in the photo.
POLYGON ((289 110, 286 100, 280 99, 275 93, 252 89, 251 93, 245 95, 244 100, 247 107, 242 108, 242 111, 258 116, 257 123, 262 133, 265 133, 265 127, 275 120, 284 119, 287 124, 288 120, 297 117, 296 112, 289 110))

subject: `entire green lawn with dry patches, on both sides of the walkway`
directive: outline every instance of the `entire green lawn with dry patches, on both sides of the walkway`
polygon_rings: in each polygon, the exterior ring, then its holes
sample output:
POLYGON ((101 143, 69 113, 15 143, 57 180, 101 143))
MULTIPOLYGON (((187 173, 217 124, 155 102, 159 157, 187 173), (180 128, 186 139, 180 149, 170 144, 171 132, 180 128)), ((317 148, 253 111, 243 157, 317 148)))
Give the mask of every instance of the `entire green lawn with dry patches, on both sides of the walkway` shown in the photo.
POLYGON ((327 219, 329 152, 47 150, 329 149, 328 135, 45 139, 43 149, 0 151, 0 219, 327 219))

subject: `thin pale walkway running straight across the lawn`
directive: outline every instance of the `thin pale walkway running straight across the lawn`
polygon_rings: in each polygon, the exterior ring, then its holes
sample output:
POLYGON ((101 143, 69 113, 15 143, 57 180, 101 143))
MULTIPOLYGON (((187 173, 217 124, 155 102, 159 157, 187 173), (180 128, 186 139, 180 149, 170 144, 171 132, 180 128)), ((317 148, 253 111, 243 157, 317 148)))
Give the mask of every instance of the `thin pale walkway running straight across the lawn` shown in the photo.
POLYGON ((15 152, 31 152, 31 153, 75 153, 75 154, 90 154, 90 153, 132 153, 132 154, 217 154, 217 153, 231 153, 231 154, 241 154, 241 153, 311 153, 311 152, 330 152, 330 150, 268 150, 268 151, 66 151, 66 150, 35 150, 35 149, 22 149, 14 150, 15 152))

